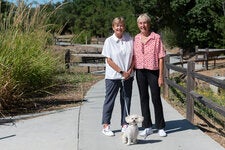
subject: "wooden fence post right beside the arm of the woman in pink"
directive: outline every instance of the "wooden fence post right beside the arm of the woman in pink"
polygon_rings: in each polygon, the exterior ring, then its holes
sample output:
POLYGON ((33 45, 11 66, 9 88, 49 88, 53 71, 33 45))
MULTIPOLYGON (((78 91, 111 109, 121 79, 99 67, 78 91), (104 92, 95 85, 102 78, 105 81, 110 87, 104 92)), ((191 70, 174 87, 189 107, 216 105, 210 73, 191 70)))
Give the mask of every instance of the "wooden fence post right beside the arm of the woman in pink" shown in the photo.
POLYGON ((167 69, 166 64, 170 62, 170 56, 166 55, 164 59, 164 88, 163 88, 163 97, 165 99, 169 98, 169 86, 166 83, 166 80, 169 78, 169 69, 167 69))

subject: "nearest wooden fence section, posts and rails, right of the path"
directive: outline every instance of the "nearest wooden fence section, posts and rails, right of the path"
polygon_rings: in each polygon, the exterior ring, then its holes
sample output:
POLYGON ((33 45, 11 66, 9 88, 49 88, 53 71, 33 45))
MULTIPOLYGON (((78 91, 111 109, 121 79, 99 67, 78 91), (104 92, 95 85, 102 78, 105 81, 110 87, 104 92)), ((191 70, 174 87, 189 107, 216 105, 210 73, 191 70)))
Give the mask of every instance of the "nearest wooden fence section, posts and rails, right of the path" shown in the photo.
MULTIPOLYGON (((167 55, 165 58, 165 67, 164 67, 165 85, 164 85, 164 90, 163 90, 164 98, 166 98, 166 99, 169 98, 169 88, 170 87, 174 87, 174 88, 178 89, 179 91, 181 91, 183 94, 185 94, 186 95, 186 118, 187 118, 187 120, 189 120, 192 123, 194 120, 194 101, 200 102, 205 107, 213 109, 214 111, 218 112, 223 117, 225 117, 225 108, 224 107, 219 106, 217 103, 213 102, 210 99, 205 98, 204 96, 202 96, 194 91, 195 79, 205 81, 209 84, 215 85, 222 89, 225 89, 225 81, 196 73, 194 61, 188 61, 187 68, 177 66, 178 63, 171 64, 170 58, 173 56, 179 56, 179 54, 167 55), (183 73, 184 75, 187 76, 186 87, 180 86, 175 81, 170 79, 170 70, 174 70, 174 71, 183 73)), ((181 64, 181 62, 180 62, 180 64, 181 64)))

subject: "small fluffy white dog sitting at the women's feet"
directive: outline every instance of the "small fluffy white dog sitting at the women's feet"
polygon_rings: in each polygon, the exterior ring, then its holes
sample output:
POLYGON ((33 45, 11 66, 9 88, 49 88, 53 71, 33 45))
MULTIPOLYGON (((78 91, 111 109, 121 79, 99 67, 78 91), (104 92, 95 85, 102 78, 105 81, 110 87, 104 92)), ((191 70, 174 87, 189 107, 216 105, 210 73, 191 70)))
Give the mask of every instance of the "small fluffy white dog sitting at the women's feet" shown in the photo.
POLYGON ((144 117, 134 114, 127 116, 125 120, 128 123, 128 127, 122 134, 122 142, 127 145, 131 145, 131 143, 136 144, 139 132, 137 124, 141 123, 144 117))

